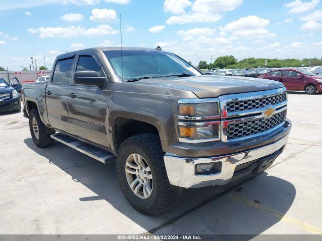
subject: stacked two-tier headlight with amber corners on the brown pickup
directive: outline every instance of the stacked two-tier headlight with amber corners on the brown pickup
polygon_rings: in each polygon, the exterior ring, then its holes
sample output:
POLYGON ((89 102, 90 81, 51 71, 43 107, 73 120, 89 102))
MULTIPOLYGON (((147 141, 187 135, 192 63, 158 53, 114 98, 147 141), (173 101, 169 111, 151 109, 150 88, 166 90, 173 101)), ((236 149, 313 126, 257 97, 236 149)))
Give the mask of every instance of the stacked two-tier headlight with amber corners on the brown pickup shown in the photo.
POLYGON ((179 99, 178 137, 191 143, 220 140, 219 100, 179 99))

